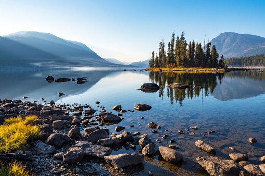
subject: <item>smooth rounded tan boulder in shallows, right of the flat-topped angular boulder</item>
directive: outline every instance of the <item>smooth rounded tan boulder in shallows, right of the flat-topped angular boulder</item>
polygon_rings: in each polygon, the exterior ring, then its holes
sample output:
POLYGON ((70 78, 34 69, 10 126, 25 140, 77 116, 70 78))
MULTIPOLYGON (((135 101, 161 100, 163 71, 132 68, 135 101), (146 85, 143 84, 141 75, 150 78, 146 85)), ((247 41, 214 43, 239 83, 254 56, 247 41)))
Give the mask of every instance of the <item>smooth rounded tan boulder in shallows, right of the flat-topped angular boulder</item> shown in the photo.
POLYGON ((170 163, 178 163, 182 160, 182 154, 168 147, 159 147, 159 152, 164 160, 170 163))

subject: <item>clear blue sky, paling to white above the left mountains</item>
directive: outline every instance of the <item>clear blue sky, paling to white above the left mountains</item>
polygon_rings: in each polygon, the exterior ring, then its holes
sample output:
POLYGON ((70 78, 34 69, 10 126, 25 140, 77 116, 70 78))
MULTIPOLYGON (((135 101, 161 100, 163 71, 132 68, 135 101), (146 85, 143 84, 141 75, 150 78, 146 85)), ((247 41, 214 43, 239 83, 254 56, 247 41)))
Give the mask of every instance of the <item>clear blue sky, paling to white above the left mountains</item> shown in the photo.
POLYGON ((52 33, 104 58, 143 61, 162 37, 203 43, 223 32, 265 37, 265 0, 0 0, 0 36, 52 33))

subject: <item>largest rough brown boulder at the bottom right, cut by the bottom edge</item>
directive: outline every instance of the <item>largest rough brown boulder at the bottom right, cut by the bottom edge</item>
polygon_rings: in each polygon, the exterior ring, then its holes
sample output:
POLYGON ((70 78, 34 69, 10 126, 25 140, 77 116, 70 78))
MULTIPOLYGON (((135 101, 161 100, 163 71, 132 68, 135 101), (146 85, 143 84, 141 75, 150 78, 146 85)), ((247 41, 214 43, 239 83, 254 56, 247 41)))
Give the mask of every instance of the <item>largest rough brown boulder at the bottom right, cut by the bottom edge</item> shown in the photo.
POLYGON ((196 160, 211 176, 249 176, 243 167, 232 160, 213 156, 197 157, 196 160))

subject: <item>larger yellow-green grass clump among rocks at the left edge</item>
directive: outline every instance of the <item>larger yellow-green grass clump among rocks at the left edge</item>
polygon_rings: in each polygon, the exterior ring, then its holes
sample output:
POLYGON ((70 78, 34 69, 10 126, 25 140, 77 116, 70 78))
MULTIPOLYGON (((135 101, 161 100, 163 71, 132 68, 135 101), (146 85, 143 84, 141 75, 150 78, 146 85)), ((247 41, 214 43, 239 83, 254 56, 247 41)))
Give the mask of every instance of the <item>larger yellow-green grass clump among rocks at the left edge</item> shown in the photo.
POLYGON ((28 116, 25 119, 11 117, 0 125, 0 153, 12 153, 16 150, 26 150, 27 142, 39 138, 38 125, 32 125, 36 116, 28 116))

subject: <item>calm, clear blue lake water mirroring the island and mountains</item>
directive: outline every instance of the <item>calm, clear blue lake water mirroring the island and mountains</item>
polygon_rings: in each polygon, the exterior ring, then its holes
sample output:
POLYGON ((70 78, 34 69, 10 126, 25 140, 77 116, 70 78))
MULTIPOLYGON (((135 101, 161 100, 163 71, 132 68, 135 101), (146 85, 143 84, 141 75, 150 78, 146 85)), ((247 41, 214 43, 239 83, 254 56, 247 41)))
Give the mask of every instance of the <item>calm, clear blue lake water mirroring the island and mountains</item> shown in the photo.
MULTIPOLYGON (((170 140, 176 141, 178 149, 184 156, 182 165, 164 162, 158 155, 145 157, 143 166, 133 170, 133 175, 146 175, 151 171, 155 175, 196 175, 198 163, 196 157, 208 155, 195 146, 200 139, 216 150, 216 156, 229 158, 235 152, 249 154, 252 164, 261 164, 259 157, 265 155, 265 72, 236 71, 225 74, 191 74, 173 72, 137 71, 69 71, 49 70, 35 72, 0 72, 0 99, 21 99, 44 103, 41 98, 58 104, 90 104, 94 109, 105 106, 106 111, 117 114, 111 107, 121 105, 124 110, 134 110, 137 103, 152 106, 145 112, 126 112, 124 120, 119 123, 131 132, 147 133, 158 146, 168 146, 170 140), (75 82, 48 83, 46 76, 77 78, 87 76, 89 82, 77 85, 75 82), (138 90, 143 83, 154 82, 160 90, 145 93, 138 90), (188 89, 171 89, 171 83, 188 84, 188 89), (58 97, 58 92, 65 93, 58 97), (144 116, 144 119, 141 117, 144 116), (147 123, 154 121, 162 128, 153 134, 147 123), (130 125, 135 125, 130 128, 130 125), (189 133, 178 134, 178 130, 190 129, 189 133), (165 131, 168 130, 168 131, 165 131), (216 131, 205 134, 204 131, 216 131), (169 137, 158 143, 156 139, 168 134, 169 137), (248 138, 255 137, 256 144, 248 143, 248 138)), ((116 125, 108 126, 110 133, 115 132, 116 125)), ((120 134, 121 132, 115 132, 120 134)), ((115 149, 112 154, 139 153, 136 150, 115 149)))

